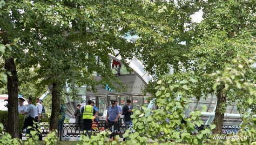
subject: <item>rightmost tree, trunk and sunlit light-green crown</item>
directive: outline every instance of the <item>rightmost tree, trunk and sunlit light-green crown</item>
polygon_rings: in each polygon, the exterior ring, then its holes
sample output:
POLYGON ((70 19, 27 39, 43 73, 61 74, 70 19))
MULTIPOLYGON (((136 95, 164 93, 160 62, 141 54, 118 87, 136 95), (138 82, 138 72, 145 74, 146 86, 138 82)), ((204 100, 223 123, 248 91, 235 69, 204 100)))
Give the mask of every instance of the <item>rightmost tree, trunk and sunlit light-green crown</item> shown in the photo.
MULTIPOLYGON (((205 73, 212 73, 216 70, 223 70, 226 67, 235 67, 232 59, 237 56, 248 56, 255 49, 252 46, 251 36, 256 32, 256 11, 254 2, 245 0, 211 0, 203 3, 203 20, 191 29, 194 33, 194 39, 191 42, 191 54, 188 55, 191 60, 190 66, 196 75, 200 77, 202 86, 199 87, 202 92, 215 93, 217 96, 217 106, 214 123, 216 128, 213 133, 222 133, 222 125, 226 106, 229 103, 243 104, 247 102, 249 94, 245 91, 237 92, 241 89, 240 83, 236 82, 237 87, 231 87, 229 84, 220 83, 213 89, 210 89, 214 81, 203 77, 205 73), (214 92, 216 91, 216 92, 214 92), (237 93, 232 93, 232 92, 237 93)), ((249 67, 246 79, 255 79, 253 67, 249 67)), ((241 105, 238 105, 241 106, 241 105)), ((246 105, 245 105, 246 106, 246 105)), ((240 108, 240 113, 243 113, 240 108)), ((239 109, 239 108, 238 108, 239 109)), ((244 109, 246 110, 246 108, 244 109)))

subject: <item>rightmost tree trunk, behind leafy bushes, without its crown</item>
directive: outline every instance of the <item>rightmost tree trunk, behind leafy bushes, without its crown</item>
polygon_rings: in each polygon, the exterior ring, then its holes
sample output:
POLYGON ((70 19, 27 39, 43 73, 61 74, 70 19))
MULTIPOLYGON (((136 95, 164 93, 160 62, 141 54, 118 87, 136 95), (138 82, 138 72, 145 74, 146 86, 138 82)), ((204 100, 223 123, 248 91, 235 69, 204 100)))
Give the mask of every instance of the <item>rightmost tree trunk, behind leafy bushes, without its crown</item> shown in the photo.
POLYGON ((218 90, 217 95, 217 106, 215 111, 215 117, 214 117, 214 124, 216 125, 216 128, 212 130, 213 134, 222 134, 222 126, 223 126, 223 119, 224 119, 224 113, 226 112, 226 100, 227 97, 223 91, 224 85, 221 85, 218 90))

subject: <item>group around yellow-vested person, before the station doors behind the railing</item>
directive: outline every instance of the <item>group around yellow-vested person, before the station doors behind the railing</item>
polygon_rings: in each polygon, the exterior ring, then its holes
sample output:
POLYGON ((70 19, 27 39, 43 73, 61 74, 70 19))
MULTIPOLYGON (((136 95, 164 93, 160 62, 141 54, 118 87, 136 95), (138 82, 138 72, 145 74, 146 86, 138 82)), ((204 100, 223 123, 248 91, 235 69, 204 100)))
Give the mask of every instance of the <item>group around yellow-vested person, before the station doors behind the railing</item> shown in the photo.
MULTIPOLYGON (((91 131, 93 123, 97 122, 95 121, 95 119, 98 114, 99 109, 94 105, 94 102, 91 100, 88 100, 87 105, 83 107, 81 107, 81 105, 77 105, 77 108, 74 112, 76 130, 78 130, 78 127, 81 127, 83 130, 91 131)), ((108 112, 106 116, 106 123, 108 123, 110 129, 110 126, 120 123, 121 115, 124 116, 124 124, 126 125, 126 127, 132 123, 132 106, 130 99, 126 101, 126 105, 123 105, 122 108, 120 105, 118 105, 118 101, 111 100, 111 106, 108 107, 108 112)))

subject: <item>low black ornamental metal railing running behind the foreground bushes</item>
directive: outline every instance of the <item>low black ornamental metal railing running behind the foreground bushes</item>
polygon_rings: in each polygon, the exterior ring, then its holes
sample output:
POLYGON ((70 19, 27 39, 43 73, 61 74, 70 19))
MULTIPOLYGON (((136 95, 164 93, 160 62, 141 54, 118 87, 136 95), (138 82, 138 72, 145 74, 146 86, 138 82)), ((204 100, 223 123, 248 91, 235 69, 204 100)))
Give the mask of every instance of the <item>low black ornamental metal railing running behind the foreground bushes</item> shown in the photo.
MULTIPOLYGON (((41 123, 39 128, 42 131, 42 137, 46 137, 49 133, 49 123, 41 123)), ((209 125, 201 125, 195 126, 195 132, 197 133, 206 128, 210 128, 209 125)), ((89 137, 96 135, 97 133, 103 131, 110 131, 110 138, 113 137, 115 139, 115 135, 119 135, 122 138, 122 135, 126 132, 126 130, 130 130, 130 132, 135 132, 132 124, 123 124, 123 123, 105 123, 105 121, 101 121, 99 123, 63 123, 62 126, 58 129, 58 137, 60 140, 63 138, 79 138, 82 134, 88 135, 89 137)), ((241 126, 231 126, 231 125, 223 125, 222 133, 223 134, 237 134, 237 132, 241 129, 241 126)), ((179 128, 177 128, 179 130, 179 128)), ((26 136, 26 130, 22 132, 22 136, 26 136)))

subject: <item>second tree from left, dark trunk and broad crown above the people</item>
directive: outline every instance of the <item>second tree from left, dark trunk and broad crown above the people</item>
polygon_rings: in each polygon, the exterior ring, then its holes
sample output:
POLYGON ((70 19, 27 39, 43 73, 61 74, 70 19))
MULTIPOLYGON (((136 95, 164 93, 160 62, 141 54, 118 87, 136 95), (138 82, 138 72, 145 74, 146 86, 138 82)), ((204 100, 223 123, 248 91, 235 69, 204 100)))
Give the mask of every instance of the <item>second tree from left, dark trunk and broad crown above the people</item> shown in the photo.
POLYGON ((31 5, 37 10, 38 21, 30 23, 30 16, 26 24, 34 25, 35 35, 40 35, 40 47, 29 49, 33 59, 24 65, 34 67, 36 78, 43 79, 40 84, 51 88, 50 130, 54 130, 59 119, 60 90, 66 82, 87 84, 92 89, 97 84, 113 86, 120 81, 109 68, 108 54, 117 49, 123 59, 132 58, 128 52, 133 52, 134 47, 121 37, 127 33, 119 30, 127 25, 120 21, 121 2, 53 0, 31 5), (101 75, 99 82, 93 72, 101 75))

